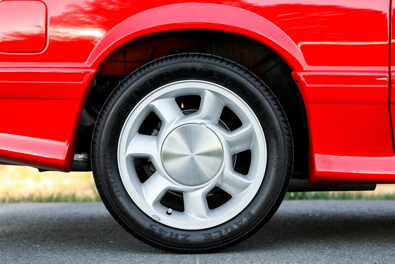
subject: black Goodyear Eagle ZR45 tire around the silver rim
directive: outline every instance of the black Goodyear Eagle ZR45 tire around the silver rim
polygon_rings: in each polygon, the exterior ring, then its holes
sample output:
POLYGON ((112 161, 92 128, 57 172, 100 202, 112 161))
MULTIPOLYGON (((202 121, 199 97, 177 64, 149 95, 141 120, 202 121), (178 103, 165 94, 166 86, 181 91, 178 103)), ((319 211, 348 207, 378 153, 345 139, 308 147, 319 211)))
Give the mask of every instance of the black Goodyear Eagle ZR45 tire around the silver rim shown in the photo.
POLYGON ((227 59, 197 53, 166 56, 126 77, 111 93, 97 119, 92 139, 92 169, 103 203, 115 220, 136 238, 182 253, 209 252, 239 243, 276 212, 288 187, 293 144, 286 116, 271 90, 253 73, 227 59), (197 71, 179 71, 181 66, 197 71), (215 74, 210 74, 215 72, 215 74), (166 73, 166 74, 163 74, 166 73), (229 82, 232 77, 232 82, 229 82), (178 229, 153 220, 129 196, 118 170, 118 140, 136 106, 155 89, 180 80, 212 82, 236 93, 253 110, 267 144, 267 167, 255 197, 231 220, 201 230, 178 229), (147 85, 147 80, 149 85, 147 85), (228 81, 227 81, 228 80, 228 81))

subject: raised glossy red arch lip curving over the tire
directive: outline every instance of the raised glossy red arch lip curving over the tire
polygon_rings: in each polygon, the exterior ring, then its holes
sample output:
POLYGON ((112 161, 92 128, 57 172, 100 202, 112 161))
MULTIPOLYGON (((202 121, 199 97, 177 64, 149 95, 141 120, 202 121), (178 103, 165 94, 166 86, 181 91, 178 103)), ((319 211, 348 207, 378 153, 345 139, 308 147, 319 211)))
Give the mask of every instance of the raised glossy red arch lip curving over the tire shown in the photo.
POLYGON ((300 71, 307 65, 300 48, 271 21, 242 8, 212 3, 170 4, 131 16, 101 39, 86 63, 99 68, 112 52, 131 41, 183 30, 210 30, 244 36, 274 50, 293 71, 300 71))

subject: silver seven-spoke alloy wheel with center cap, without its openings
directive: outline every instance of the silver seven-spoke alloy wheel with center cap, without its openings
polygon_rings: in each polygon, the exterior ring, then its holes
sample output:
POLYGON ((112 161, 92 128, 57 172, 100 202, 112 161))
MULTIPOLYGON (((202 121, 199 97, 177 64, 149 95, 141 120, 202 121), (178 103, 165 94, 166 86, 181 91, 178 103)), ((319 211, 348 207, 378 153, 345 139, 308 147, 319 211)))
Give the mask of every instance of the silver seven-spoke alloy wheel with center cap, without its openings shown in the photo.
POLYGON ((237 216, 257 194, 266 162, 265 135, 251 108, 229 89, 201 80, 173 82, 145 96, 127 116, 118 141, 119 173, 133 202, 153 220, 181 229, 209 228, 237 216), (188 114, 176 102, 187 95, 200 98, 197 111, 188 114), (221 125, 224 107, 241 121, 239 128, 221 125), (160 120, 158 132, 139 133, 151 113, 160 120), (244 175, 234 165, 247 150, 244 175), (144 182, 135 167, 141 158, 153 167, 144 182), (207 197, 216 189, 230 198, 210 208, 207 197), (180 196, 184 210, 165 206, 167 193, 180 196))

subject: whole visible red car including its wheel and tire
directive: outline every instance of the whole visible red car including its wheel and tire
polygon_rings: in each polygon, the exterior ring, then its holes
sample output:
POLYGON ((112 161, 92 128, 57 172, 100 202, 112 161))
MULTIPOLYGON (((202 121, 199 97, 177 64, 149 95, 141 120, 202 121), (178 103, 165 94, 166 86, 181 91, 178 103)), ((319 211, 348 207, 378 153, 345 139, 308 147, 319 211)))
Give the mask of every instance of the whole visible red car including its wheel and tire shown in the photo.
POLYGON ((394 5, 1 0, 0 160, 92 170, 122 227, 181 252, 251 236, 290 182, 394 183, 394 5))

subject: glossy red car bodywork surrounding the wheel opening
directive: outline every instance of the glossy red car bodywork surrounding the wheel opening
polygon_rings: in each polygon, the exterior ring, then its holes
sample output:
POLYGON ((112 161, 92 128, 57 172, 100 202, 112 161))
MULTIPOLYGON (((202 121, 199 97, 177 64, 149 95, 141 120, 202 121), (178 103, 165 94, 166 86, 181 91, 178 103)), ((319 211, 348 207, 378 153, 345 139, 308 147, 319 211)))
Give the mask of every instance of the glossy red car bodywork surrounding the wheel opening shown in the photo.
POLYGON ((146 62, 142 47, 119 52, 125 44, 218 31, 271 48, 292 69, 309 126, 310 184, 395 182, 394 5, 1 0, 0 160, 70 171, 95 74, 127 74, 146 62))

